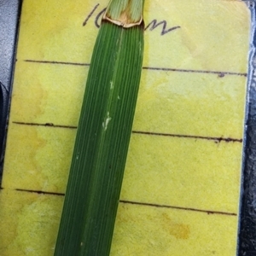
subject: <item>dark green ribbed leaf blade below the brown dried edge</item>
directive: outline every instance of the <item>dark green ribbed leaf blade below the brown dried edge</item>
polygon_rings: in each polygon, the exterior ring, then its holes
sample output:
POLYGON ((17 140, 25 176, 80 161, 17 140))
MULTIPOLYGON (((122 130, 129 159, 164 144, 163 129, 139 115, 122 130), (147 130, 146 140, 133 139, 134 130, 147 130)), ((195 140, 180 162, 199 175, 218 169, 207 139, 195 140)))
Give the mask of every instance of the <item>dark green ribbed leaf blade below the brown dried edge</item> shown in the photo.
POLYGON ((104 256, 110 252, 142 72, 143 30, 143 21, 125 28, 102 20, 55 256, 104 256))

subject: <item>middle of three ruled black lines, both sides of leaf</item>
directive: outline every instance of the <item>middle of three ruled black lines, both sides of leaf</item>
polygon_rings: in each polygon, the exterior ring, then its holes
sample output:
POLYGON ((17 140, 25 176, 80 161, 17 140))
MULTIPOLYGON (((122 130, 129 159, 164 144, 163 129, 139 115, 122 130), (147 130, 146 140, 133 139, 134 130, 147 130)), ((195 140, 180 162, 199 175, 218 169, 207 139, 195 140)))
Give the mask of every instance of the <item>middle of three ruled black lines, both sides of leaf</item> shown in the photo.
MULTIPOLYGON (((52 127, 52 128, 66 128, 66 129, 77 129, 77 126, 71 125, 54 125, 53 123, 25 123, 25 122, 17 122, 13 121, 15 125, 30 125, 30 126, 44 126, 44 127, 52 127)), ((132 131, 134 134, 143 134, 149 136, 161 136, 161 137, 182 137, 182 138, 193 138, 193 139, 201 139, 214 141, 215 143, 242 143, 242 139, 230 138, 230 137, 203 137, 203 136, 194 136, 194 135, 182 135, 182 134, 171 134, 171 133, 160 133, 160 132, 150 132, 150 131, 132 131)))

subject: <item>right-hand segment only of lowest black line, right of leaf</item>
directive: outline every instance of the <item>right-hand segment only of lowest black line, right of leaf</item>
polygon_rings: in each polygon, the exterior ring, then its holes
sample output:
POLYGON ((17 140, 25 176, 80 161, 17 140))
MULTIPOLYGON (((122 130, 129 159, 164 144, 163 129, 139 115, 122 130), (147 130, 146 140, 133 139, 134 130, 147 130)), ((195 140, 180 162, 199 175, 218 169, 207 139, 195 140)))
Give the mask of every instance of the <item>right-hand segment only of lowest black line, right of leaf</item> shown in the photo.
POLYGON ((208 210, 201 210, 201 209, 188 208, 188 207, 172 207, 172 206, 151 204, 151 203, 144 203, 144 202, 137 202, 137 201, 120 200, 119 202, 124 203, 124 204, 131 204, 131 205, 144 206, 144 207, 169 208, 169 209, 177 209, 177 210, 191 211, 191 212, 204 212, 207 214, 221 214, 221 215, 237 216, 237 214, 233 213, 233 212, 208 211, 208 210))

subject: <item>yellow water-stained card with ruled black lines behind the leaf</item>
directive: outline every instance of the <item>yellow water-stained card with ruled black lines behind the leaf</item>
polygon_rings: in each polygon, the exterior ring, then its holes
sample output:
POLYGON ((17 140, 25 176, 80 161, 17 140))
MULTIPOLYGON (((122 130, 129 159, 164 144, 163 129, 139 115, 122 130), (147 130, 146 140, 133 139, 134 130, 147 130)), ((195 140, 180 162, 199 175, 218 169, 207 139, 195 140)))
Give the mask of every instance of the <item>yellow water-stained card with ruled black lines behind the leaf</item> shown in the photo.
MULTIPOLYGON (((53 255, 97 17, 107 4, 23 3, 1 256, 53 255)), ((111 255, 235 255, 249 9, 240 1, 148 0, 145 25, 111 255)))

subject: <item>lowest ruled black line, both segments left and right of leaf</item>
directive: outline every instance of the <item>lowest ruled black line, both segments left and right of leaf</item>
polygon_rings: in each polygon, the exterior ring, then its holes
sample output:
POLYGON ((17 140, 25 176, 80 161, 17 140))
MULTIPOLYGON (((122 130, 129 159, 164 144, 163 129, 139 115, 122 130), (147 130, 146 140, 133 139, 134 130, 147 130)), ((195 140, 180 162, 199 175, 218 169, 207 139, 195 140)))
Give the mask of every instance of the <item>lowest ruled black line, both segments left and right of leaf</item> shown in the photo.
MULTIPOLYGON (((3 188, 1 187, 0 189, 3 189, 3 188)), ((15 191, 26 192, 26 193, 37 193, 37 194, 42 194, 42 195, 65 196, 64 193, 47 192, 47 191, 32 190, 32 189, 15 189, 15 191)), ((221 215, 237 216, 237 214, 233 213, 233 212, 209 211, 209 210, 201 210, 201 209, 195 209, 195 208, 189 208, 189 207, 173 207, 173 206, 145 203, 145 202, 138 202, 138 201, 119 200, 119 202, 123 203, 123 204, 131 204, 131 205, 144 206, 144 207, 158 207, 158 208, 177 209, 177 210, 190 211, 190 212, 204 212, 207 214, 221 214, 221 215)))

